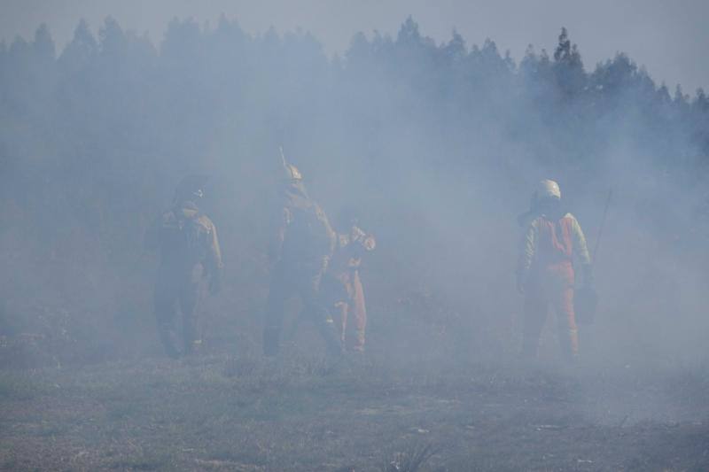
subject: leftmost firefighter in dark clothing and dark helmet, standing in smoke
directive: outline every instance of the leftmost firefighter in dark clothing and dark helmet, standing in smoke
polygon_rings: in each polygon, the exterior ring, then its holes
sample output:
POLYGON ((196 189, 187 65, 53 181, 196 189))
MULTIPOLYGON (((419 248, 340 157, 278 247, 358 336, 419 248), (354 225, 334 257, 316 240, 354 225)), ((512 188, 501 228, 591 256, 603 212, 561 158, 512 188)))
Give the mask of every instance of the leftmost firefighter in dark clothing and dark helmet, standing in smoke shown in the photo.
POLYGON ((172 207, 145 235, 145 245, 160 251, 155 315, 160 340, 172 358, 199 348, 199 302, 206 288, 213 295, 220 289, 222 253, 216 227, 199 211, 206 181, 205 175, 185 177, 177 185, 172 207), (182 343, 175 329, 177 305, 182 313, 182 343))

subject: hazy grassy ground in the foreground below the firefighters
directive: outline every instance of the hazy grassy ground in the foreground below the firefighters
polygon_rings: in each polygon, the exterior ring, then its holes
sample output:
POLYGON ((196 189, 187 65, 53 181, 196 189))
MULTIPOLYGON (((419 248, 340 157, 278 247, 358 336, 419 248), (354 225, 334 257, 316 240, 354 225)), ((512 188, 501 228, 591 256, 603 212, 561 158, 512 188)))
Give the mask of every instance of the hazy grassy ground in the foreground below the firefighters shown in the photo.
POLYGON ((706 374, 295 350, 2 370, 0 468, 709 470, 706 374))

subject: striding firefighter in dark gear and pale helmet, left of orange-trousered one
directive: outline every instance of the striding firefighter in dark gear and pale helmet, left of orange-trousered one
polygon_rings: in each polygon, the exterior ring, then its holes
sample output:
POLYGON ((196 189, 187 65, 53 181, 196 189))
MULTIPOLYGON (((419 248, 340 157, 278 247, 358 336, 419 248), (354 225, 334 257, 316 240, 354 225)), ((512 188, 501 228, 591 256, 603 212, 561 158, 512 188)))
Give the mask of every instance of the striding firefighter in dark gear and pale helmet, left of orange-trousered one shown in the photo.
POLYGON ((271 282, 263 329, 263 353, 280 350, 285 302, 299 295, 303 316, 316 325, 328 352, 341 352, 334 322, 320 298, 320 282, 335 245, 322 208, 308 196, 300 171, 283 159, 276 228, 269 248, 271 282))

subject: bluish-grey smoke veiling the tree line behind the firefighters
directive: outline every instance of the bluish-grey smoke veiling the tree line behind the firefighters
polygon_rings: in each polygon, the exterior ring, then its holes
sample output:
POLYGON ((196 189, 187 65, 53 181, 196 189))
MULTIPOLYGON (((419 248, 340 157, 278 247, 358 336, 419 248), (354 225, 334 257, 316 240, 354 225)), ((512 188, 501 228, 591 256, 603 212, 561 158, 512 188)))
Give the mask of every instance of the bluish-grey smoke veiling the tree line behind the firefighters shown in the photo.
POLYGON ((226 263, 206 336, 257 350, 283 145, 331 220, 354 205, 378 236, 362 274, 373 351, 514 355, 516 217, 552 178, 592 247, 613 191, 581 350, 706 359, 706 98, 670 97, 623 55, 587 71, 565 33, 555 52, 515 64, 410 18, 341 58, 228 19, 174 20, 159 45, 113 19, 97 38, 79 25, 58 56, 43 28, 3 45, 4 336, 41 331, 64 360, 159 353, 141 239, 175 183, 206 172, 226 263))

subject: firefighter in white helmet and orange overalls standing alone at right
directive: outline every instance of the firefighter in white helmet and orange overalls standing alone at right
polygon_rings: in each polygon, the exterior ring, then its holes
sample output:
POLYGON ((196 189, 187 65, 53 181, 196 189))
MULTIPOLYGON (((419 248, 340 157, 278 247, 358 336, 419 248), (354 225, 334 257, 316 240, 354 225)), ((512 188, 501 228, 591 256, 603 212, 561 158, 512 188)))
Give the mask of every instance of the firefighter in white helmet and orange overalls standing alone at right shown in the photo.
POLYGON ((575 360, 579 334, 573 312, 573 258, 580 262, 584 282, 592 283, 586 238, 579 222, 562 205, 561 191, 554 181, 539 182, 525 220, 517 272, 518 291, 525 295, 522 353, 537 356, 541 329, 551 305, 557 314, 562 352, 566 359, 575 360))

